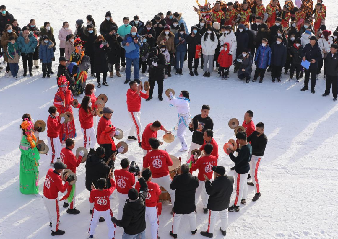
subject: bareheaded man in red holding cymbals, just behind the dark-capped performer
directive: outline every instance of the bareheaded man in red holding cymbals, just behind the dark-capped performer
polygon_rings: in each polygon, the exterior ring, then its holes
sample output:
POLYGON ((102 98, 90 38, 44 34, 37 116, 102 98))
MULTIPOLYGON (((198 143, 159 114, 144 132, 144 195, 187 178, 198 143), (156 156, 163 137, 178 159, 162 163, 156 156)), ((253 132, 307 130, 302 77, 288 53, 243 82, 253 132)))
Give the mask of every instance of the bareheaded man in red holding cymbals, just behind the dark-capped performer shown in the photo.
MULTIPOLYGON (((66 147, 61 150, 61 162, 65 163, 67 165, 67 169, 72 170, 74 174, 76 174, 76 167, 78 167, 82 161, 82 157, 84 156, 84 151, 81 150, 79 153, 79 157, 76 158, 73 154, 72 150, 75 147, 75 142, 73 139, 66 139, 66 147)), ((65 196, 60 200, 66 200, 70 194, 70 191, 72 190, 72 185, 68 186, 67 192, 65 192, 65 196)), ((75 209, 75 195, 76 195, 76 187, 74 191, 73 200, 69 204, 68 202, 65 202, 63 207, 67 208, 67 213, 70 214, 79 214, 80 211, 75 209)))

